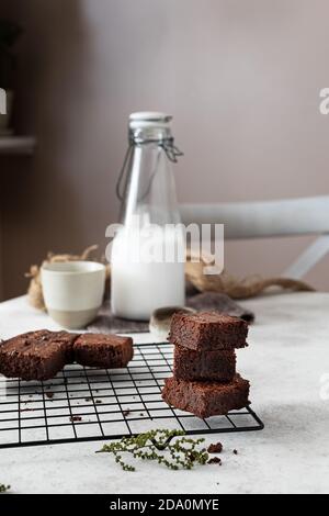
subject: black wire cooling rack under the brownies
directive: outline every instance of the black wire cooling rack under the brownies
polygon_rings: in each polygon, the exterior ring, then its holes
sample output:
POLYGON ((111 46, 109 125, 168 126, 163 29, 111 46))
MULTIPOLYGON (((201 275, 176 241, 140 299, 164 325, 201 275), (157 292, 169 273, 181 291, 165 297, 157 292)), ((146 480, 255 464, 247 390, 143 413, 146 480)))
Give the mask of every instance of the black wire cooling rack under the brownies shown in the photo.
POLYGON ((250 407, 200 419, 161 400, 172 374, 172 346, 135 345, 125 369, 68 366, 54 380, 23 382, 0 377, 0 448, 120 439, 158 428, 188 435, 261 430, 250 407))

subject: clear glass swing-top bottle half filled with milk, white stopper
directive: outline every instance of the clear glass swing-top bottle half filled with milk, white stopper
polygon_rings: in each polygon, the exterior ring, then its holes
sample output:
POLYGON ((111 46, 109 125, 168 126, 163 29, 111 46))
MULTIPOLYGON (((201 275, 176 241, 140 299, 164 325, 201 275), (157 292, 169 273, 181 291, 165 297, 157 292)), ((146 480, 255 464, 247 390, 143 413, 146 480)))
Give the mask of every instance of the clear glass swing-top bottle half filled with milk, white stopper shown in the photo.
POLYGON ((164 113, 129 116, 129 148, 117 186, 122 225, 112 243, 111 302, 116 316, 148 321, 161 306, 183 306, 184 242, 164 113), (123 192, 121 188, 123 187, 123 192))

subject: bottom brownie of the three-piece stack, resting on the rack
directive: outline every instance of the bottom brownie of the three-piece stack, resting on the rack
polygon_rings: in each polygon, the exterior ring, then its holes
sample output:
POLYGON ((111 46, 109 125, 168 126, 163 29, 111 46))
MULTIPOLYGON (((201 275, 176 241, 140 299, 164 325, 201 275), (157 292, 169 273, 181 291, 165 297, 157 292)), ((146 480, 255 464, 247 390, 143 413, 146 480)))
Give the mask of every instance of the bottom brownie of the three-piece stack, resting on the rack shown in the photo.
POLYGON ((162 399, 169 405, 205 418, 227 414, 249 404, 249 382, 236 374, 230 383, 164 380, 162 399))

